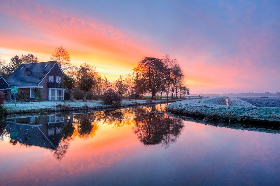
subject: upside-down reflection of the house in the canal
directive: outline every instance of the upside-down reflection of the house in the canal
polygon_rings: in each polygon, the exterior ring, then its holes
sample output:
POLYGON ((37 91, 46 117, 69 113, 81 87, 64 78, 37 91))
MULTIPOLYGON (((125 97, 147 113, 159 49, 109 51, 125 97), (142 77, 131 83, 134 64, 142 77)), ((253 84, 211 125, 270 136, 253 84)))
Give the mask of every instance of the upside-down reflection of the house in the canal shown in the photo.
POLYGON ((57 149, 62 139, 62 127, 71 125, 69 116, 24 116, 6 119, 10 143, 57 149))

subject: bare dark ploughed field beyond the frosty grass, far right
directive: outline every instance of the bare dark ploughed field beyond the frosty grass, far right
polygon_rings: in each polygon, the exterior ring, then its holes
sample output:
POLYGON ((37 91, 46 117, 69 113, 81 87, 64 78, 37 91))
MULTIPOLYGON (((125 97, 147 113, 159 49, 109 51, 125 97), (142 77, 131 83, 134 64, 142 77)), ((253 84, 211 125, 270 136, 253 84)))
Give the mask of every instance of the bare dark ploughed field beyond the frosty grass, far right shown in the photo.
POLYGON ((280 97, 235 97, 239 100, 246 101, 256 107, 280 107, 280 97))

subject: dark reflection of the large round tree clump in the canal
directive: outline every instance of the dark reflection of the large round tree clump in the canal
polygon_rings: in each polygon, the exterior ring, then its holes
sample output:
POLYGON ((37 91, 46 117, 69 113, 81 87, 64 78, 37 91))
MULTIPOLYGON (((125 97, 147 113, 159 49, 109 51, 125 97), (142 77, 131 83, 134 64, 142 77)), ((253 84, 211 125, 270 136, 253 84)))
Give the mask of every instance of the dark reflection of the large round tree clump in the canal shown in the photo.
MULTIPOLYGON (((154 110, 154 109, 152 109, 154 110)), ((150 114, 143 107, 138 107, 135 112, 136 126, 134 134, 145 145, 162 144, 165 148, 170 143, 175 143, 179 137, 183 122, 163 115, 150 114)))

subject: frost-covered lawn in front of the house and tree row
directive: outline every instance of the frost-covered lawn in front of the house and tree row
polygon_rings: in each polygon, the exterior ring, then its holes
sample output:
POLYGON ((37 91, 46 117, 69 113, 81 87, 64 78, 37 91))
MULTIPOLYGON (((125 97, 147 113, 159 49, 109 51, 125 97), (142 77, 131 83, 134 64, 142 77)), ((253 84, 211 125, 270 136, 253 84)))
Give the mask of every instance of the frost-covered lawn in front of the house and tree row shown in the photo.
MULTIPOLYGON (((146 100, 122 100, 121 104, 129 104, 132 102, 137 103, 145 103, 146 100)), ((159 102, 160 100, 153 100, 153 103, 159 102)), ((8 110, 27 110, 27 109, 53 109, 58 103, 64 103, 70 104, 71 107, 83 107, 85 104, 88 107, 95 107, 100 105, 105 105, 101 100, 95 101, 95 100, 88 100, 87 102, 83 102, 81 100, 75 100, 74 102, 70 101, 40 101, 40 102, 22 102, 17 103, 17 107, 15 107, 14 102, 5 102, 4 106, 7 107, 8 110)))

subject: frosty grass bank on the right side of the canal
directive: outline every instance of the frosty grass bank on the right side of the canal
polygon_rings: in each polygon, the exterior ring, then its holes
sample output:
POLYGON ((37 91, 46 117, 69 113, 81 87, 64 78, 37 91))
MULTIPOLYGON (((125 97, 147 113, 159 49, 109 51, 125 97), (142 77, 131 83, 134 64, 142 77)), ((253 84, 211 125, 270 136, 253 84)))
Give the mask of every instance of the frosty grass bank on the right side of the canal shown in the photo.
POLYGON ((280 121, 279 107, 256 107, 253 104, 228 98, 229 106, 225 105, 226 97, 183 100, 166 106, 170 111, 194 114, 213 120, 245 121, 247 119, 280 121))

